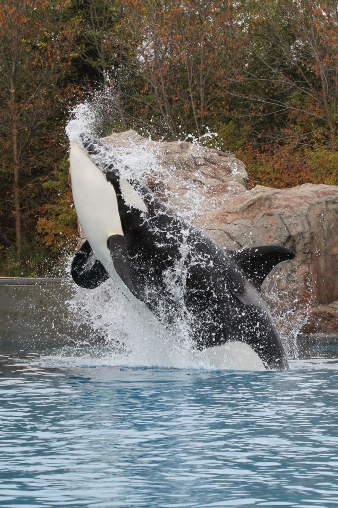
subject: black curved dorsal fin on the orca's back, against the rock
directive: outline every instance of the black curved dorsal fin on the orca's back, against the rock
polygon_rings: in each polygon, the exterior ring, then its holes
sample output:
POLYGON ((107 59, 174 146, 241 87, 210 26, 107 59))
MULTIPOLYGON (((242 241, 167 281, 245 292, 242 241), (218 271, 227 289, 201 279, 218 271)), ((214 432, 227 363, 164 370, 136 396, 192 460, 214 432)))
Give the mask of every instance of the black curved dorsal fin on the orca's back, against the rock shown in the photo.
POLYGON ((293 259, 295 253, 279 245, 260 245, 232 250, 230 257, 242 268, 255 288, 260 290, 263 280, 271 270, 279 263, 293 259))

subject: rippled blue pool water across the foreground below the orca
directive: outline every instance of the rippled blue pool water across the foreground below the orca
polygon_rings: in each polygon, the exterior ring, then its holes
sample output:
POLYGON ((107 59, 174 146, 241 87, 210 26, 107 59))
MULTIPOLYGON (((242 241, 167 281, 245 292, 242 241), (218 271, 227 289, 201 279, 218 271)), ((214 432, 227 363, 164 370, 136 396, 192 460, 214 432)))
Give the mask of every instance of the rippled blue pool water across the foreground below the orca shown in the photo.
POLYGON ((0 506, 337 506, 338 365, 324 357, 244 373, 5 353, 0 506))

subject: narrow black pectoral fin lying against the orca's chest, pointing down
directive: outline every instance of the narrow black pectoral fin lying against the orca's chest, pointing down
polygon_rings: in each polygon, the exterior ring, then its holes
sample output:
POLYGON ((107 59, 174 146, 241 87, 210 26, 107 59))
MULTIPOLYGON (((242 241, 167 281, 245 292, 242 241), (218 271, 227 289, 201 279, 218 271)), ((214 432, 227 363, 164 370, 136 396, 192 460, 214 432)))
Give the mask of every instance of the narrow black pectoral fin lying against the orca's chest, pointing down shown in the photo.
POLYGON ((122 235, 111 235, 108 238, 107 244, 117 274, 136 298, 145 301, 144 293, 137 287, 130 274, 125 237, 122 235))

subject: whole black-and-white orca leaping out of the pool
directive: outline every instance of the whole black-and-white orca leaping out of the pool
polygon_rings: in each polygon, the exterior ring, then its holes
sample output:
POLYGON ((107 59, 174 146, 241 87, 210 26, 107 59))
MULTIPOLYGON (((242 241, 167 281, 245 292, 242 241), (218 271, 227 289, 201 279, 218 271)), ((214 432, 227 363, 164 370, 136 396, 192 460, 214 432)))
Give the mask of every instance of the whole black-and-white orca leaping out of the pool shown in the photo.
POLYGON ((72 193, 86 237, 71 263, 74 281, 90 289, 117 274, 129 298, 166 327, 184 315, 196 350, 216 365, 242 344, 254 356, 249 369, 288 368, 260 288, 295 253, 276 245, 224 250, 117 167, 101 141, 82 135, 72 144, 72 193))

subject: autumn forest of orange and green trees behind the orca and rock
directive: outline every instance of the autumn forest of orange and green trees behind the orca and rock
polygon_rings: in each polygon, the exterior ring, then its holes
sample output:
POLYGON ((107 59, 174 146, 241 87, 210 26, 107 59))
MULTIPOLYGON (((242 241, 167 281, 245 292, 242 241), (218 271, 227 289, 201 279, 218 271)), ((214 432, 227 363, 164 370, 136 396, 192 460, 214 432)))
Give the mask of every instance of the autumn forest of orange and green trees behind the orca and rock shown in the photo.
POLYGON ((102 89, 98 135, 191 135, 250 185, 338 185, 336 0, 0 0, 0 275, 74 248, 65 125, 102 89))

